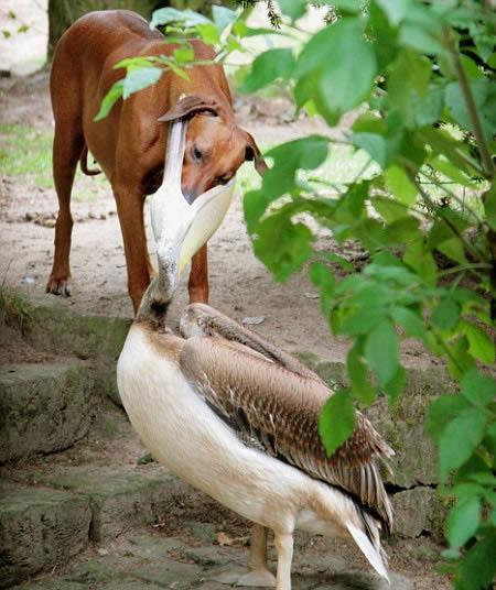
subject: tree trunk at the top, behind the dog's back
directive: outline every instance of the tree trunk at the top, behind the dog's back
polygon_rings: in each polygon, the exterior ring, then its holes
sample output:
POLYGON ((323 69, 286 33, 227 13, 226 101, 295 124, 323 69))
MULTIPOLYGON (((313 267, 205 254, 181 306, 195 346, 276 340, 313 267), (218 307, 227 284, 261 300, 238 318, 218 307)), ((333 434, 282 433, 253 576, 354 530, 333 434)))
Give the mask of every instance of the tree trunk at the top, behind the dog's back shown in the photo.
POLYGON ((150 19, 154 10, 165 6, 205 12, 213 3, 212 0, 48 0, 48 59, 62 34, 91 10, 128 9, 150 19))

